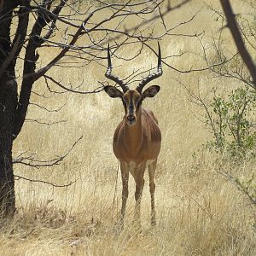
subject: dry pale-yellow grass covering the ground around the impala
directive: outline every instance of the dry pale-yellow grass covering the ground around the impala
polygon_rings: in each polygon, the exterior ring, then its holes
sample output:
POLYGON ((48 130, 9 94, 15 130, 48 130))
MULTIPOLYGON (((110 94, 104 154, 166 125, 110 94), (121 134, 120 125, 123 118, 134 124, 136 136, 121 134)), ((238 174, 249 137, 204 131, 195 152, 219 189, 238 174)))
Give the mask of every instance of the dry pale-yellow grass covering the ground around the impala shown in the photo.
MULTIPOLYGON (((237 4, 240 1, 235 1, 237 4)), ((218 1, 208 1, 218 6, 218 1)), ((201 8, 194 1, 168 17, 170 22, 189 16, 201 8), (182 15, 181 15, 182 14, 182 15)), ((195 21, 183 31, 205 29, 218 31, 211 13, 202 9, 195 21)), ((182 29, 181 29, 182 32, 182 29)), ((228 33, 227 33, 228 34, 228 33)), ((200 50, 195 39, 169 38, 161 43, 163 55, 177 54, 180 49, 200 50)), ((50 52, 45 54, 51 58, 50 52)), ((124 52, 128 56, 128 52, 124 52)), ((116 68, 122 75, 132 68, 155 63, 155 57, 145 52, 136 63, 116 68), (121 71, 122 69, 122 71, 121 71)), ((195 55, 170 61, 178 68, 191 64, 203 65, 195 55)), ((115 65, 121 64, 115 62, 115 65)), ((55 75, 63 76, 60 69, 55 75)), ((144 102, 160 121, 162 149, 156 174, 157 226, 149 225, 150 196, 148 176, 143 194, 143 232, 131 225, 134 207, 134 183, 130 181, 130 196, 124 232, 116 236, 113 224, 120 205, 121 183, 117 178, 118 161, 112 153, 112 136, 122 117, 121 103, 104 93, 90 96, 61 95, 57 101, 44 100, 48 108, 67 102, 60 114, 44 113, 31 107, 29 116, 45 119, 67 119, 59 125, 44 126, 26 123, 15 141, 15 155, 24 151, 37 152, 47 158, 61 154, 81 135, 83 140, 61 166, 40 170, 15 166, 15 173, 42 178, 54 183, 78 181, 68 188, 57 189, 40 183, 17 181, 15 185, 18 212, 9 223, 1 224, 0 255, 255 255, 255 233, 251 222, 253 209, 246 198, 218 173, 215 156, 201 150, 209 134, 195 118, 203 110, 189 100, 184 88, 172 77, 178 77, 197 89, 198 78, 204 91, 218 83, 219 90, 231 90, 224 79, 210 79, 208 73, 178 75, 165 68, 157 81, 160 94, 144 102), (225 87, 224 87, 225 86, 225 87), (196 157, 192 154, 197 152, 196 157), (116 183, 117 180, 117 183, 116 183), (115 194, 117 196, 115 196, 115 194), (114 200, 115 199, 115 200, 114 200)), ((65 78, 73 84, 81 79, 96 84, 104 70, 94 67, 65 70, 65 78)), ((229 81, 230 83, 230 81, 229 81)), ((44 88, 38 82, 35 90, 44 88)), ((36 101, 37 98, 33 98, 36 101)), ((253 165, 236 174, 247 177, 253 165)))

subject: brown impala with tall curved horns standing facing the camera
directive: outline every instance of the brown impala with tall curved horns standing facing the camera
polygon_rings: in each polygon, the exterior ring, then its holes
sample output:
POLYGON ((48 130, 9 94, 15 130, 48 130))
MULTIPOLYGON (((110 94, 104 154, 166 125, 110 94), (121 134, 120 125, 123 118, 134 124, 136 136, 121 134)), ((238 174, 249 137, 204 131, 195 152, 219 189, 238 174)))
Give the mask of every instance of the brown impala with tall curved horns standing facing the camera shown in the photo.
POLYGON ((112 98, 120 98, 125 108, 125 116, 117 126, 113 136, 113 153, 120 161, 121 176, 123 183, 122 207, 119 224, 124 226, 125 207, 128 197, 129 172, 136 183, 135 192, 135 214, 134 220, 140 224, 141 199, 143 195, 144 172, 148 166, 149 191, 151 195, 151 224, 155 225, 154 210, 154 172, 157 158, 160 153, 161 133, 157 119, 150 110, 142 108, 143 100, 147 97, 154 97, 160 90, 160 86, 152 85, 143 91, 143 87, 153 79, 162 75, 160 45, 158 55, 157 72, 148 75, 137 86, 136 90, 130 90, 127 84, 111 74, 112 64, 108 45, 108 69, 105 76, 119 84, 121 90, 107 85, 104 90, 112 98))

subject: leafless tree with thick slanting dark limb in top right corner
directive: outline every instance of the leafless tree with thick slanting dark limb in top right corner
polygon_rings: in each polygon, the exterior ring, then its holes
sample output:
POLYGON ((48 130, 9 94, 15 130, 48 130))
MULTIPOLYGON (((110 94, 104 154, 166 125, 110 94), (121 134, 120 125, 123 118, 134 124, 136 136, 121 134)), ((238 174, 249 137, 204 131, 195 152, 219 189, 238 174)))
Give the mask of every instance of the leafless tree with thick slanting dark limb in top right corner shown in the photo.
POLYGON ((256 24, 253 17, 256 5, 253 1, 247 0, 244 4, 249 4, 252 12, 234 15, 230 4, 226 1, 223 2, 224 8, 229 7, 227 15, 231 15, 232 19, 228 19, 225 15, 226 12, 223 12, 222 9, 207 5, 207 8, 212 11, 212 17, 218 21, 220 27, 218 32, 212 32, 212 38, 201 38, 202 57, 214 76, 238 81, 255 89, 253 52, 256 49, 256 24), (239 46, 235 51, 225 38, 226 27, 231 27, 232 33, 236 33, 236 40, 239 38, 237 41, 239 46), (221 63, 221 65, 215 65, 217 63, 221 63))

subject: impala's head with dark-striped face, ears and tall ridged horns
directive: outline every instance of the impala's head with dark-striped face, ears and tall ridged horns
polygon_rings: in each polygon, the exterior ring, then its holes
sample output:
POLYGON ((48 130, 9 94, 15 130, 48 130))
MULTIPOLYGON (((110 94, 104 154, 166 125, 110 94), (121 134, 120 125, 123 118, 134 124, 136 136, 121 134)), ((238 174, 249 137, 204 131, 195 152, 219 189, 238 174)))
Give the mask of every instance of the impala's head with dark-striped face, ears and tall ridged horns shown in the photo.
POLYGON ((114 86, 108 85, 104 87, 104 90, 108 93, 108 96, 112 98, 120 98, 123 102, 125 108, 125 117, 128 125, 135 125, 137 122, 137 117, 141 111, 142 102, 147 97, 154 97, 160 90, 159 85, 151 85, 148 89, 143 91, 143 87, 148 84, 150 81, 159 78, 162 75, 161 67, 161 53, 160 45, 159 46, 159 55, 158 55, 158 67, 157 72, 150 74, 146 79, 143 79, 140 84, 137 86, 136 90, 130 90, 127 84, 118 77, 115 77, 111 74, 112 65, 110 59, 109 45, 108 45, 108 70, 106 72, 106 77, 112 79, 114 82, 120 85, 123 91, 117 89, 114 86))

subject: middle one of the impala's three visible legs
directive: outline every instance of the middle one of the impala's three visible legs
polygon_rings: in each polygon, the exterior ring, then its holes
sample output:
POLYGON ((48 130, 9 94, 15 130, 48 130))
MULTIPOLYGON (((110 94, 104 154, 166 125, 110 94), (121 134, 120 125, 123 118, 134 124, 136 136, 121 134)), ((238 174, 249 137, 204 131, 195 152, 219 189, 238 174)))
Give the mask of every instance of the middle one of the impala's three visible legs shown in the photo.
POLYGON ((135 182, 136 182, 136 191, 135 191, 135 212, 134 212, 134 223, 141 226, 141 201, 143 196, 143 186, 144 186, 144 172, 145 165, 142 166, 141 169, 137 169, 135 182))

